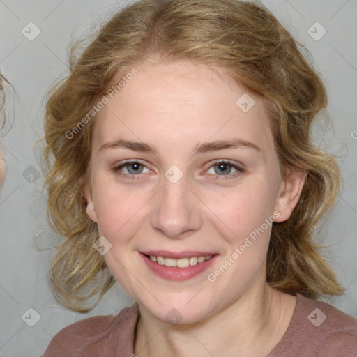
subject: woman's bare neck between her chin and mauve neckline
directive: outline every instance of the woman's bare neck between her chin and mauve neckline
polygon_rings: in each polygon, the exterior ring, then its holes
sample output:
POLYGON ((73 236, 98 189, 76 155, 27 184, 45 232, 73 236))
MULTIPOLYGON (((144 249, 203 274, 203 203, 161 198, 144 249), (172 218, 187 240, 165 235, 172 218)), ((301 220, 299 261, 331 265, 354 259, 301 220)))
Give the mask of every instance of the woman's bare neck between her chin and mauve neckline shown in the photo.
POLYGON ((173 326, 140 307, 135 354, 265 357, 287 331, 295 307, 295 296, 275 290, 266 282, 195 324, 173 326))

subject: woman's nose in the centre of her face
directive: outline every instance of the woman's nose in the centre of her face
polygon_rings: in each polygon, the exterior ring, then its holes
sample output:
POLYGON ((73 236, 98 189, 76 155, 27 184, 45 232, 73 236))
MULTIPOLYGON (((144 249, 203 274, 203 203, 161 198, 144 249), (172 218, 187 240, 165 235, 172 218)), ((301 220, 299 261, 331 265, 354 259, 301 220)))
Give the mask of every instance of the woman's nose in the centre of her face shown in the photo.
POLYGON ((184 238, 202 226, 202 208, 185 176, 176 183, 164 178, 162 189, 155 195, 151 225, 169 238, 184 238))

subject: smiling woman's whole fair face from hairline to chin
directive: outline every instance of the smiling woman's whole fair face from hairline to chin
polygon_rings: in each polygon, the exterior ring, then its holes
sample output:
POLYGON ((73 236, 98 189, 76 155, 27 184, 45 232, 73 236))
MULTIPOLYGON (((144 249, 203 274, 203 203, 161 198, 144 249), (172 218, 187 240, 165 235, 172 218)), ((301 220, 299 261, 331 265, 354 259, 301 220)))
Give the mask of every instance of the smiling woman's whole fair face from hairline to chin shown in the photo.
POLYGON ((301 185, 282 181, 266 110, 243 85, 186 61, 136 68, 96 118, 86 211, 139 306, 202 321, 265 284, 271 223, 301 185))

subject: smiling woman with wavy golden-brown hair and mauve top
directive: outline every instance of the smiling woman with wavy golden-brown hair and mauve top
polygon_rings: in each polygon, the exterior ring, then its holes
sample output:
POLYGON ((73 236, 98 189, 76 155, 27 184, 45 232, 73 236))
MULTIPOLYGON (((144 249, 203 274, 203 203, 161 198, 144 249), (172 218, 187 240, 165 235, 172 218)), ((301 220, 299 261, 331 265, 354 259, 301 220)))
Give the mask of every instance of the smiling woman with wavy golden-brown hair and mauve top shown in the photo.
POLYGON ((356 319, 316 300, 343 291, 312 242, 340 190, 310 142, 326 102, 257 3, 114 15, 47 101, 50 276, 71 310, 115 281, 135 305, 43 356, 354 356, 356 319))

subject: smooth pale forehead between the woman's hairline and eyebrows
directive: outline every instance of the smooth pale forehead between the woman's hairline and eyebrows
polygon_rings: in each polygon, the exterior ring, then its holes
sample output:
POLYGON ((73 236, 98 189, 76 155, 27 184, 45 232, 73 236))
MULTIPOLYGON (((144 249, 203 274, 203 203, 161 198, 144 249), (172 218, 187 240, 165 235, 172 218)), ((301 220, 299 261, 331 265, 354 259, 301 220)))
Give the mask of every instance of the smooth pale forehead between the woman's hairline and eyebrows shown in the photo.
POLYGON ((186 147, 228 135, 271 145, 261 99, 218 68, 177 61, 135 69, 98 113, 94 146, 123 137, 186 147))

